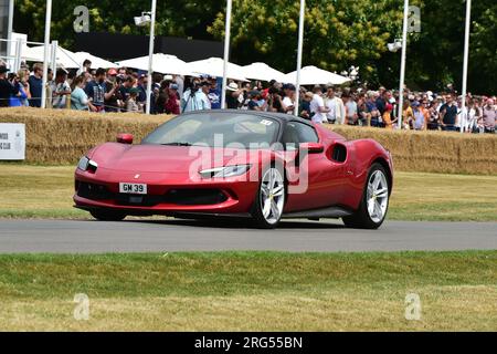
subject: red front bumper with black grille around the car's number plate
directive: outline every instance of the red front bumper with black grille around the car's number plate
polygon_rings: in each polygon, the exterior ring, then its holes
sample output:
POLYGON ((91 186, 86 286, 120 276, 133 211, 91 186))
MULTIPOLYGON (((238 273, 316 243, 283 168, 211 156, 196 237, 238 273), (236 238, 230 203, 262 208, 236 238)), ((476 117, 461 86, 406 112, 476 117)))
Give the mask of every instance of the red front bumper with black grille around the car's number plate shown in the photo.
POLYGON ((127 215, 247 215, 252 208, 258 183, 243 178, 202 179, 190 181, 183 176, 140 174, 131 179, 123 174, 75 173, 75 207, 84 210, 119 210, 127 215), (119 183, 147 184, 148 194, 119 192, 119 183), (89 188, 88 188, 89 186, 89 188))

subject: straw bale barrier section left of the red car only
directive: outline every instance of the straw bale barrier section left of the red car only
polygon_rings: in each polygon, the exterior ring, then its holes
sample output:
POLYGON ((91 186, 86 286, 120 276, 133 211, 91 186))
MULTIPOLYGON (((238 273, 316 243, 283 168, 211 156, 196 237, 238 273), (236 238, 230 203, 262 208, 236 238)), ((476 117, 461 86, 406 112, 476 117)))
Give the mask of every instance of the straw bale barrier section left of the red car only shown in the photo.
POLYGON ((0 123, 24 123, 27 162, 74 164, 89 148, 130 133, 137 142, 171 116, 129 113, 97 114, 30 107, 1 108, 0 123))

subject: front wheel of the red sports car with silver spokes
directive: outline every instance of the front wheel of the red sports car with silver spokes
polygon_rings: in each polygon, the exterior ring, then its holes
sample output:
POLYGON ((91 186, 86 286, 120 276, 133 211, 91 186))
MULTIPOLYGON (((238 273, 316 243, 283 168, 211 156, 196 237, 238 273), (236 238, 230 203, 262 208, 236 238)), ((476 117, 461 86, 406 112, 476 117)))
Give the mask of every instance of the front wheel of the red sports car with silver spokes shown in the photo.
POLYGON ((286 196, 283 176, 283 173, 274 166, 263 173, 252 210, 253 220, 258 228, 274 229, 282 219, 286 196))

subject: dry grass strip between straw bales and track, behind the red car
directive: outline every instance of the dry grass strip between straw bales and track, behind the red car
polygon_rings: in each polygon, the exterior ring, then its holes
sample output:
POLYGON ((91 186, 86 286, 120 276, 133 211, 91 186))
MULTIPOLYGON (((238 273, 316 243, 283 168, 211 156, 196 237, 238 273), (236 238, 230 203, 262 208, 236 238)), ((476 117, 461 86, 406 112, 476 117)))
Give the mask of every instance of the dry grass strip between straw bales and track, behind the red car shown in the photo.
MULTIPOLYGON (((73 166, 0 164, 0 218, 87 218, 73 166)), ((390 220, 497 221, 497 176, 396 173, 390 220)))

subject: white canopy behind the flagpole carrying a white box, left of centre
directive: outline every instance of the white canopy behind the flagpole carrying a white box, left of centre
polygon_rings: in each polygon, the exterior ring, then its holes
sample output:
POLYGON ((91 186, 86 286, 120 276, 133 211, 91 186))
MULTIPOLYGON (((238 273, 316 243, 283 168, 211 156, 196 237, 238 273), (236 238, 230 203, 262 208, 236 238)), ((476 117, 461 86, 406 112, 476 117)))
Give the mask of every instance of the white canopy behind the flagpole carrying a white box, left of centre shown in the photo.
MULTIPOLYGON (((148 71, 148 55, 124 60, 118 64, 119 66, 148 71)), ((154 54, 152 70, 162 74, 192 75, 188 64, 181 59, 162 53, 154 54)))

